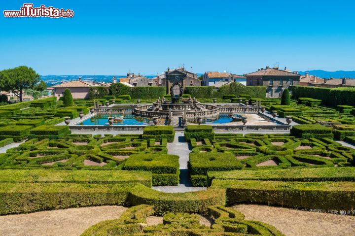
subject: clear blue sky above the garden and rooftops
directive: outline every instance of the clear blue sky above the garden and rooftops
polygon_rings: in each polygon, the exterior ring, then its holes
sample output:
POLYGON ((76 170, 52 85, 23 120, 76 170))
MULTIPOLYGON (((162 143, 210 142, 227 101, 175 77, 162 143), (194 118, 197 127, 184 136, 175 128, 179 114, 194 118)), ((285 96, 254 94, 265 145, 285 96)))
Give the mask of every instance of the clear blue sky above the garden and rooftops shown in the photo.
POLYGON ((45 74, 355 70, 355 3, 339 0, 1 1, 0 69, 45 74), (32 2, 73 18, 5 18, 32 2))

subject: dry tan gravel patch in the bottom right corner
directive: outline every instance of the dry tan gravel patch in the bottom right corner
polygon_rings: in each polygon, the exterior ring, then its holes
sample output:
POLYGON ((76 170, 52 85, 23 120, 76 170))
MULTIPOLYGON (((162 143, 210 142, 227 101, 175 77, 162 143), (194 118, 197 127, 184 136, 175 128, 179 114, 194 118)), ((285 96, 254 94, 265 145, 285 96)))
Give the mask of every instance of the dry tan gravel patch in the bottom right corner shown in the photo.
POLYGON ((301 211, 266 205, 236 205, 246 220, 275 226, 286 236, 355 235, 355 216, 301 211))

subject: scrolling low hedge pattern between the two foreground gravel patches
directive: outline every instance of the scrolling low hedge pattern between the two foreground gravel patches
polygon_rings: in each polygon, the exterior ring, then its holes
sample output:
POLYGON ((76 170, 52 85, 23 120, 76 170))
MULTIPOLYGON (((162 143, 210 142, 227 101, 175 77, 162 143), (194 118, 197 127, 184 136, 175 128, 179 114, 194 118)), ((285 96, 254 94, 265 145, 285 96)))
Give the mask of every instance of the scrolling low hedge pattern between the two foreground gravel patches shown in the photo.
POLYGON ((241 212, 222 205, 208 207, 206 216, 215 219, 211 227, 200 224, 200 215, 187 213, 167 213, 163 215, 162 224, 147 226, 146 219, 154 213, 152 205, 133 206, 127 209, 119 219, 99 222, 87 229, 81 236, 238 236, 249 234, 283 236, 275 227, 259 221, 247 221, 241 212))

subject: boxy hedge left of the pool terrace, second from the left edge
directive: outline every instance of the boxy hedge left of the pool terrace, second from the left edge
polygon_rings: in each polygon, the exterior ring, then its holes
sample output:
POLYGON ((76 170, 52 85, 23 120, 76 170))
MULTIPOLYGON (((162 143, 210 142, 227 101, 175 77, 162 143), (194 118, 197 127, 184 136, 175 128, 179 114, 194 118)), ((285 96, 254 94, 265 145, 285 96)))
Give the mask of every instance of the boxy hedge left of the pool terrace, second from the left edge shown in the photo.
POLYGON ((39 140, 44 138, 57 139, 71 134, 68 126, 42 125, 31 130, 31 135, 35 135, 39 140))

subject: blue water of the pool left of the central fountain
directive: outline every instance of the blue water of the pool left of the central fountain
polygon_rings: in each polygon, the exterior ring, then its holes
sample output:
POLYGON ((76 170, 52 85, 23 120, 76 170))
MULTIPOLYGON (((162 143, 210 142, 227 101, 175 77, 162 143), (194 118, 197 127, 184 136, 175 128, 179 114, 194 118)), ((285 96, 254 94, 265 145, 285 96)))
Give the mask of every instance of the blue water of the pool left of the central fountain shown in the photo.
MULTIPOLYGON (((108 117, 112 115, 100 114, 95 115, 79 125, 106 125, 108 126, 108 117)), ((114 115, 116 116, 116 115, 114 115)), ((116 121, 112 125, 153 125, 152 119, 138 117, 132 114, 118 114, 117 116, 124 116, 123 120, 116 121)))

